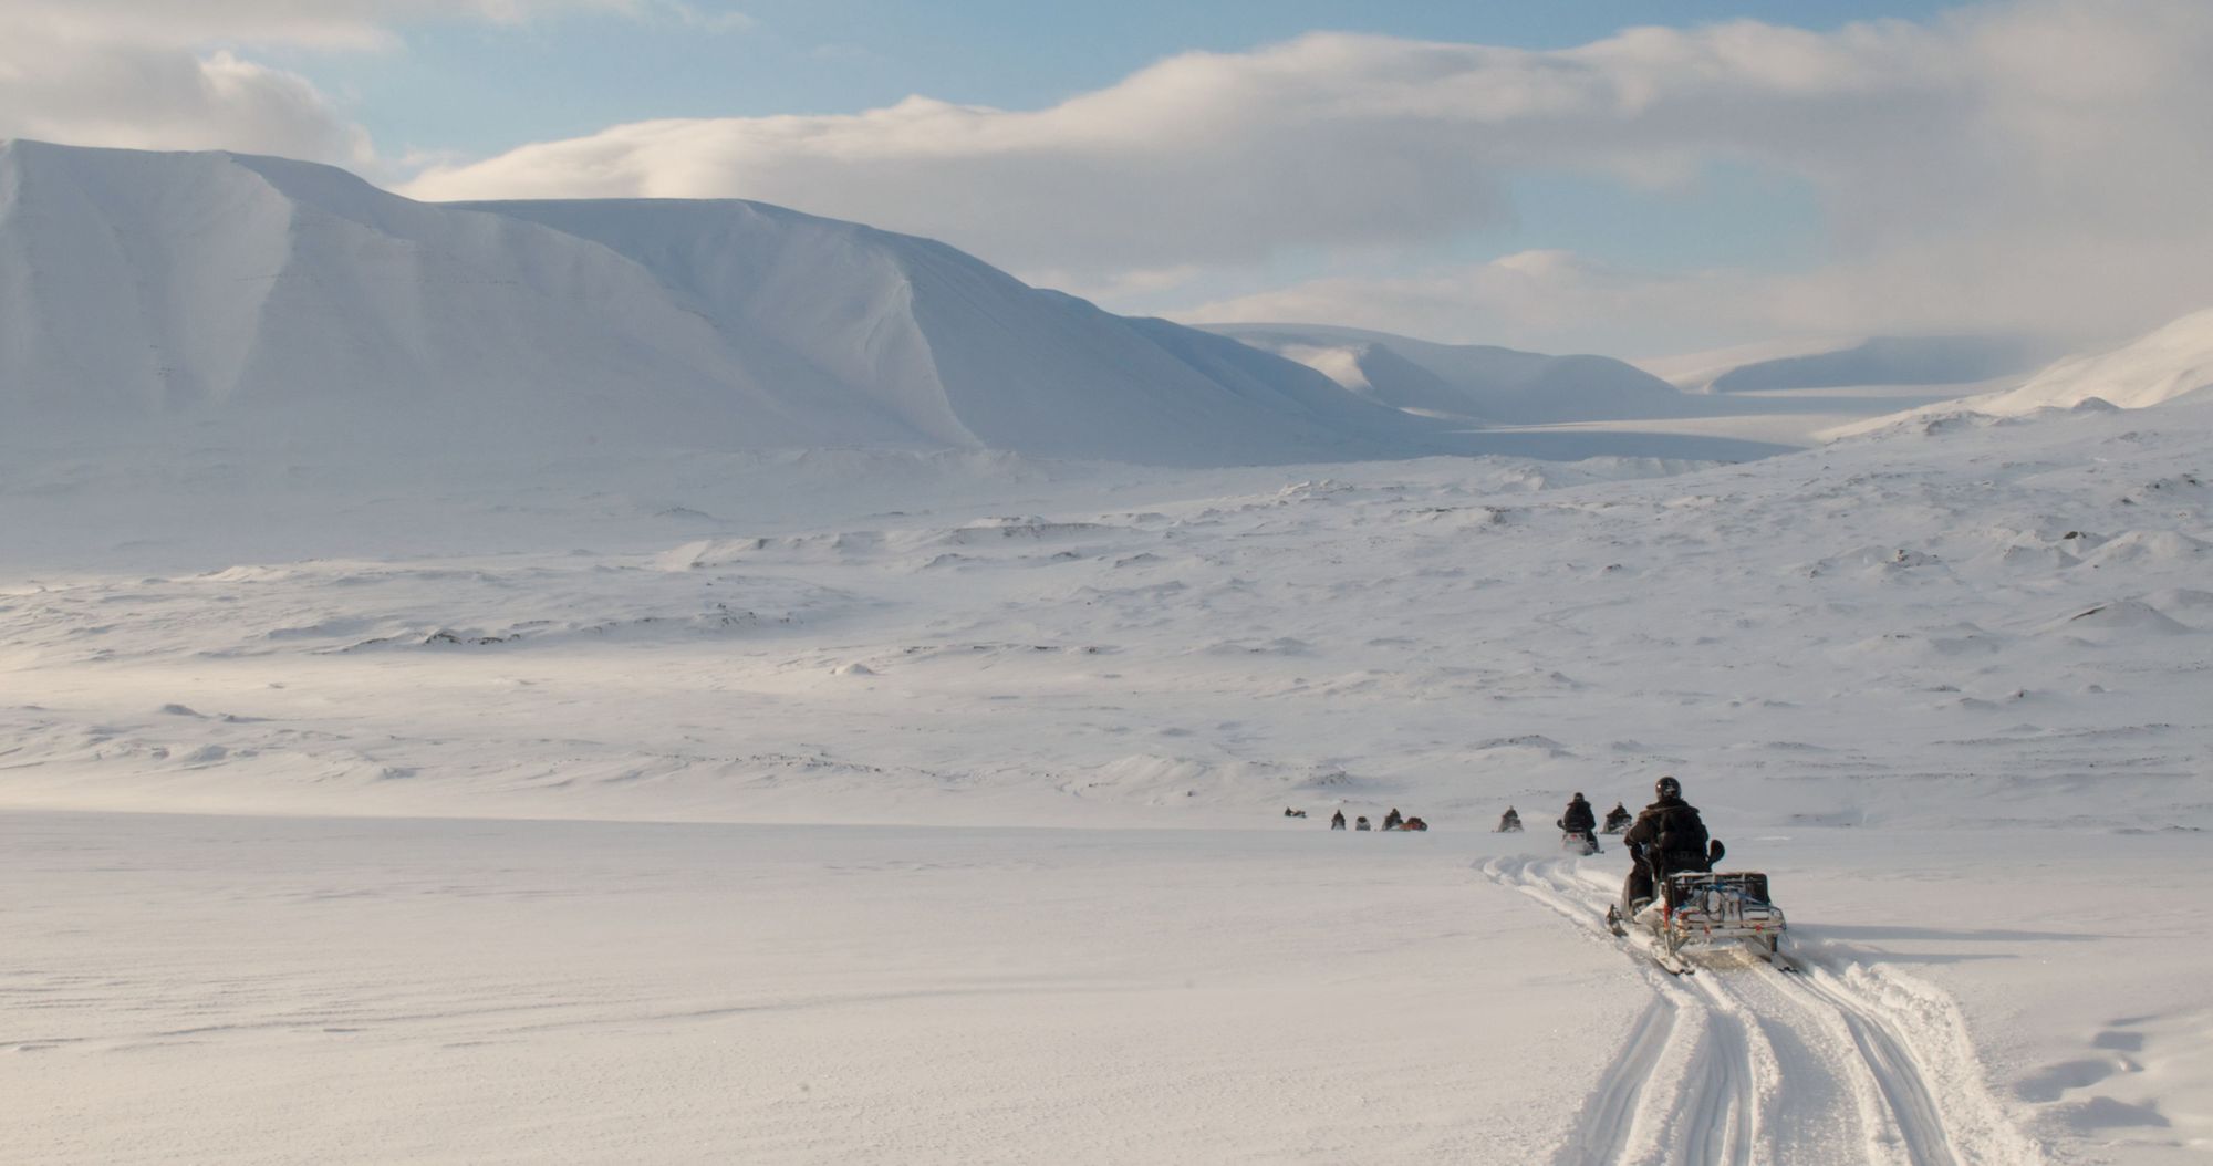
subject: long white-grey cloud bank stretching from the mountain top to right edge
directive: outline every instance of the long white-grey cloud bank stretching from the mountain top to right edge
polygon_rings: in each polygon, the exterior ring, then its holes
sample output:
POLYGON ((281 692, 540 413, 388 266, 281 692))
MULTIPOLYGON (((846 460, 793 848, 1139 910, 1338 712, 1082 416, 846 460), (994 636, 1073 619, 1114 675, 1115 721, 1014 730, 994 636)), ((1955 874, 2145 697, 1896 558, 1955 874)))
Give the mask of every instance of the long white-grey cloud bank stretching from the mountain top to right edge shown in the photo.
POLYGON ((1042 111, 910 97, 841 117, 615 126, 432 168, 407 190, 755 197, 1091 288, 1354 254, 1385 274, 1272 303, 1372 316, 1396 299, 1407 321, 1458 305, 1461 319, 1615 310, 1706 332, 1801 316, 1821 332, 2129 330, 2213 301, 2204 60, 2202 0, 2023 0, 1826 33, 1631 29, 1565 51, 1332 33, 1180 55, 1042 111), (1511 175, 1666 188, 1715 162, 1808 184, 1839 261, 1797 277, 1419 266, 1505 221, 1511 175))

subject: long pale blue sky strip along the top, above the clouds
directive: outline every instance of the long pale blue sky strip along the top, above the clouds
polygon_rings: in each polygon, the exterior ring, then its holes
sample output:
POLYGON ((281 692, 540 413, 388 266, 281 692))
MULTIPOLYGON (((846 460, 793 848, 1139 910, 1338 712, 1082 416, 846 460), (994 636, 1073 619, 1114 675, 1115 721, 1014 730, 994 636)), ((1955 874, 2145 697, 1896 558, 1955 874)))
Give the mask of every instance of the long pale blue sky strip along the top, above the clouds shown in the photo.
POLYGON ((443 22, 389 53, 288 51, 394 153, 485 155, 651 117, 859 113, 912 93, 1038 108, 1184 51, 1235 53, 1330 29, 1567 49, 1633 24, 1773 20, 1832 29, 1928 18, 1930 0, 697 0, 744 31, 571 13, 527 27, 443 22))

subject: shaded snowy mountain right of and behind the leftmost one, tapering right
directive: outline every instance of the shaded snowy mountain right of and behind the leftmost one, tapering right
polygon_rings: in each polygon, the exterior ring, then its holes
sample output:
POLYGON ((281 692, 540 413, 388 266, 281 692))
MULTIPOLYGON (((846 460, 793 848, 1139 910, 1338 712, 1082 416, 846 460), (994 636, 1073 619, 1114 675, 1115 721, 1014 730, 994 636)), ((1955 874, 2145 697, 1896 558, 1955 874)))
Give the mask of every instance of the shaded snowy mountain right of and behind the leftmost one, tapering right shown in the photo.
POLYGON ((744 201, 454 206, 602 243, 739 350, 825 372, 949 445, 1182 465, 1438 449, 1290 361, 1027 288, 929 239, 744 201))

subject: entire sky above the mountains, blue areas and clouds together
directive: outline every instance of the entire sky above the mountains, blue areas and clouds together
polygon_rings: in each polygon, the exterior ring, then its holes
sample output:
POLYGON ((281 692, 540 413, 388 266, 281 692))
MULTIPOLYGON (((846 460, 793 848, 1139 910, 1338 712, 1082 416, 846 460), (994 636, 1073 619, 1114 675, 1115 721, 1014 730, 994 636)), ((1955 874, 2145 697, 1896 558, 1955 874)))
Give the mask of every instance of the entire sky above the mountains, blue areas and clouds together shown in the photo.
POLYGON ((0 137, 761 199, 1186 321, 2089 341, 2213 303, 2206 60, 2206 0, 7 0, 0 137))

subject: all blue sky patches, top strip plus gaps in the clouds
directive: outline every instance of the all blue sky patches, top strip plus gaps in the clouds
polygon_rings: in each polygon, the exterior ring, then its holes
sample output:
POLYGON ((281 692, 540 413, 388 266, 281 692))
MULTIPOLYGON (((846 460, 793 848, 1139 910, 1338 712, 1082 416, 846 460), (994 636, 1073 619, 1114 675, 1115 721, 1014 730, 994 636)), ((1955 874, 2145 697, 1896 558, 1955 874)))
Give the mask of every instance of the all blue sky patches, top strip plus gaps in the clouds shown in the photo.
MULTIPOLYGON (((529 27, 425 24, 374 55, 294 51, 283 64, 339 95, 398 155, 491 155, 655 117, 861 113, 921 93, 958 104, 1040 108, 1184 51, 1235 53, 1308 31, 1567 49, 1633 24, 1779 20, 1830 29, 1928 18, 1930 0, 1438 2, 1235 0, 1038 4, 967 0, 697 2, 735 15, 726 31, 679 20, 575 13, 529 27)), ((1514 181, 1514 217, 1441 243, 1441 257, 1494 259, 1573 248, 1609 263, 1781 270, 1826 252, 1815 192, 1784 175, 1713 168, 1677 192, 1638 192, 1567 173, 1514 181), (1653 223, 1664 230, 1653 230, 1653 223)), ((1286 252, 1266 279, 1317 270, 1286 252)), ((1124 308, 1173 310, 1175 296, 1124 308)))

